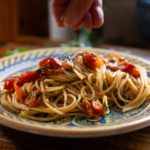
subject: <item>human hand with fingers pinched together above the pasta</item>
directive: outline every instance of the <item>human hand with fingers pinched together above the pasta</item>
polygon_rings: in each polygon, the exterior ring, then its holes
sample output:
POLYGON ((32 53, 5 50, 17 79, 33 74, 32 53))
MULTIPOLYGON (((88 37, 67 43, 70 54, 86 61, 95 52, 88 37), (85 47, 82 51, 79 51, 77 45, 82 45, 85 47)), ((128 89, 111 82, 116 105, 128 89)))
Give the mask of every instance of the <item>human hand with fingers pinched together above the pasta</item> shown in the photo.
POLYGON ((52 0, 51 7, 61 27, 98 28, 104 22, 102 0, 52 0))

